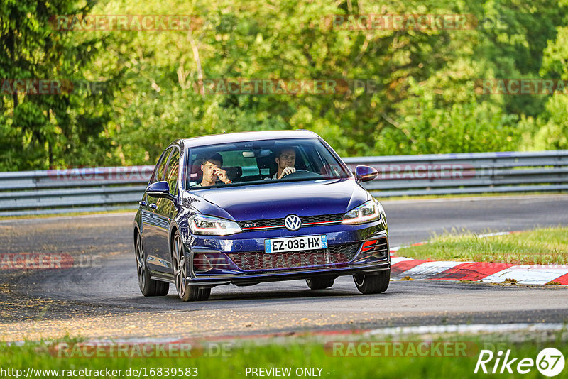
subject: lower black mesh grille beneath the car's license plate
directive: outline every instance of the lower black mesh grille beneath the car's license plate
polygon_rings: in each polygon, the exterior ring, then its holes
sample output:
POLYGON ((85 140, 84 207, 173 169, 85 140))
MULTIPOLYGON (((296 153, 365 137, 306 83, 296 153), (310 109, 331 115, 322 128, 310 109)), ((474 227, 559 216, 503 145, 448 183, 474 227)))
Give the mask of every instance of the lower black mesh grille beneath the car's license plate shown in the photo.
POLYGON ((360 243, 347 243, 310 251, 292 251, 290 253, 251 251, 227 255, 241 270, 311 268, 322 265, 345 265, 355 258, 359 245, 360 243))

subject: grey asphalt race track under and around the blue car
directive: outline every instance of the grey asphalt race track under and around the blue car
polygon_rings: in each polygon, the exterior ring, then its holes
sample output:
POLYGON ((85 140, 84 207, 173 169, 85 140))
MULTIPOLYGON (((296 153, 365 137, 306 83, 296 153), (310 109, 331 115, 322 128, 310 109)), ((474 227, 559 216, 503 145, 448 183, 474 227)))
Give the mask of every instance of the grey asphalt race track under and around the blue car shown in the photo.
MULTIPOLYGON (((568 225, 568 195, 385 201, 391 246, 451 229, 568 225)), ((392 281, 361 295, 350 277, 328 290, 304 281, 220 286, 206 302, 144 298, 132 252, 133 214, 0 221, 4 253, 94 256, 65 270, 0 270, 0 339, 70 334, 96 339, 297 333, 383 326, 568 322, 568 289, 429 280, 392 281), (94 263, 94 264, 90 264, 94 263)))

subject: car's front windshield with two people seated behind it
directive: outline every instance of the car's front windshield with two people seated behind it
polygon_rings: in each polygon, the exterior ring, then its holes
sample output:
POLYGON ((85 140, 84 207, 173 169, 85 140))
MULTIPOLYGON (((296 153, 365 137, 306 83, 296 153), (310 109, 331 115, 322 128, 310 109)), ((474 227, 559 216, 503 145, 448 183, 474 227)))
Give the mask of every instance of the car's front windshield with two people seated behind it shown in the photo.
POLYGON ((187 189, 351 176, 317 138, 190 148, 186 167, 187 189))

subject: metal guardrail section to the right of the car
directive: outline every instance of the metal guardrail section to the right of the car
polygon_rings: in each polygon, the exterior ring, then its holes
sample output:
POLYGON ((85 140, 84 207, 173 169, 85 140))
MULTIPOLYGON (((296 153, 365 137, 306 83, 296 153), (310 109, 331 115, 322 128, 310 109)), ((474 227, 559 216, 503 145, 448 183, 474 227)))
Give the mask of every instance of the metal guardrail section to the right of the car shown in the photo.
POLYGON ((568 189, 568 150, 391 155, 345 158, 379 174, 366 189, 379 197, 550 192, 568 189))

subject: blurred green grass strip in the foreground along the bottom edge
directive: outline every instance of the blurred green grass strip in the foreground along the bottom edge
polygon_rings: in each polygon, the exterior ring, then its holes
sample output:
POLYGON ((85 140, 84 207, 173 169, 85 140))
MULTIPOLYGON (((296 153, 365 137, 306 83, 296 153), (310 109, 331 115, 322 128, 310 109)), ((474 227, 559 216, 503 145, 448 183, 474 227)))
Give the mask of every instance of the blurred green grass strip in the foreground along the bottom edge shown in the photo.
MULTIPOLYGON (((362 337, 361 337, 362 339, 362 337)), ((361 341, 359 339, 359 341, 361 341)), ((338 337, 334 341, 344 341, 338 337)), ((499 349, 506 351, 510 349, 510 357, 532 358, 542 348, 555 347, 564 356, 568 356, 568 344, 557 337, 553 341, 523 341, 513 343, 503 339, 495 340, 487 337, 450 337, 443 341, 454 341, 459 343, 466 342, 468 348, 461 353, 452 353, 449 356, 419 356, 412 353, 413 350, 405 348, 403 354, 397 356, 384 356, 379 350, 380 356, 333 356, 332 349, 324 348, 323 342, 292 340, 293 344, 264 344, 262 346, 248 343, 236 348, 226 348, 223 356, 214 353, 205 353, 197 357, 170 357, 170 358, 117 358, 117 357, 92 357, 92 358, 67 358, 59 357, 56 353, 50 353, 45 344, 27 343, 24 346, 6 346, 0 344, 1 368, 16 368, 23 370, 25 375, 28 367, 35 369, 102 369, 125 370, 146 368, 148 378, 158 378, 160 375, 150 375, 150 369, 157 368, 197 368, 199 378, 251 378, 245 375, 247 367, 290 367, 292 375, 290 378, 297 378, 294 371, 296 368, 322 368, 323 378, 479 378, 493 377, 496 375, 474 374, 474 368, 482 348, 488 348, 497 353, 499 349), (295 342, 294 342, 295 341, 295 342), (241 374, 239 374, 241 373, 241 374), (329 373, 329 374, 327 374, 329 373)), ((366 342, 370 339, 366 339, 366 342)), ((385 338, 374 337, 373 341, 388 341, 385 338)), ((395 339, 394 341, 407 341, 414 346, 422 342, 420 339, 406 340, 395 339)), ((430 339, 430 341, 441 342, 442 337, 430 339)), ((329 342, 328 342, 329 344, 329 342)), ((392 345, 391 345, 392 346, 392 345)), ((344 353, 346 350, 342 350, 344 353)), ((519 360, 517 360, 518 362, 519 360)), ((491 366, 495 360, 491 361, 491 366)), ((513 366, 514 368, 514 366, 513 366)), ((317 372, 317 370, 316 370, 317 372)), ((162 372, 164 373, 164 371, 162 372)), ((564 368, 564 375, 556 378, 566 377, 568 368, 564 368)), ((184 375, 185 376, 185 375, 184 375)), ((501 375, 503 376, 503 375, 501 375)), ((50 377, 40 375, 38 378, 50 377)), ((84 375, 84 377, 94 377, 94 375, 84 375)), ((141 377, 145 377, 141 375, 141 377)), ((161 375, 162 378, 168 376, 161 375)), ((178 376, 176 376, 178 377, 178 376)), ((510 377, 510 375, 508 376, 510 377)), ((532 368, 527 375, 513 375, 513 377, 540 378, 542 377, 536 368, 532 368)), ((171 378, 171 376, 170 376, 171 378)))

